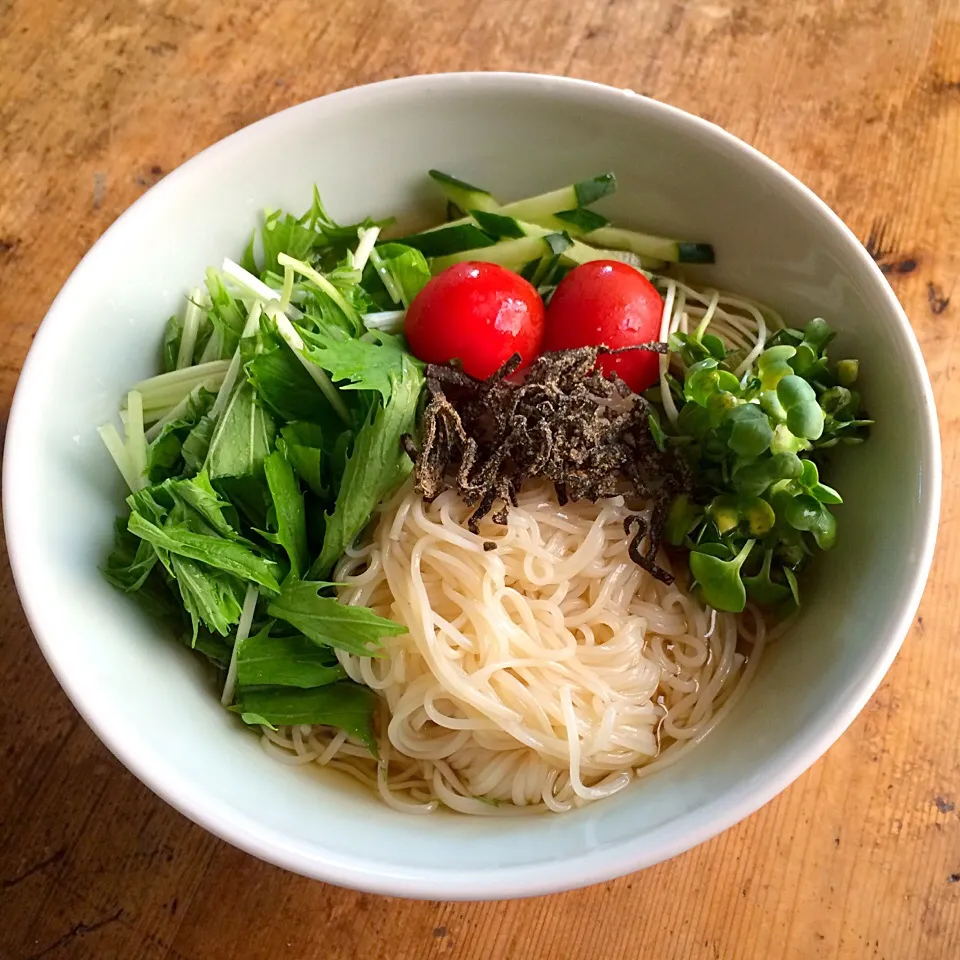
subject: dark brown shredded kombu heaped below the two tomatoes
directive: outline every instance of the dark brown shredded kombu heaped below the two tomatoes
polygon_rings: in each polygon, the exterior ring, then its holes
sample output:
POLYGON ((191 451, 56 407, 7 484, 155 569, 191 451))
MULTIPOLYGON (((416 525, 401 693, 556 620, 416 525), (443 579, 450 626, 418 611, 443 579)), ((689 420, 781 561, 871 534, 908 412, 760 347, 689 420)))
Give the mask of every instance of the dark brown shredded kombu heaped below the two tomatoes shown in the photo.
MULTIPOLYGON (((665 345, 642 347, 664 352, 665 345)), ((658 580, 673 577, 656 562, 667 508, 687 486, 683 463, 663 452, 650 432, 650 404, 622 380, 595 369, 603 353, 581 347, 539 357, 521 380, 515 354, 496 373, 478 380, 453 366, 428 364, 429 400, 419 448, 404 438, 413 458, 418 492, 433 500, 455 487, 475 506, 468 527, 496 507, 495 523, 506 523, 517 491, 535 477, 550 480, 562 504, 625 494, 651 501, 649 522, 627 518, 624 534, 633 538, 630 556, 658 580), (646 543, 644 544, 644 540, 646 543)), ((485 549, 493 546, 491 541, 485 549)))

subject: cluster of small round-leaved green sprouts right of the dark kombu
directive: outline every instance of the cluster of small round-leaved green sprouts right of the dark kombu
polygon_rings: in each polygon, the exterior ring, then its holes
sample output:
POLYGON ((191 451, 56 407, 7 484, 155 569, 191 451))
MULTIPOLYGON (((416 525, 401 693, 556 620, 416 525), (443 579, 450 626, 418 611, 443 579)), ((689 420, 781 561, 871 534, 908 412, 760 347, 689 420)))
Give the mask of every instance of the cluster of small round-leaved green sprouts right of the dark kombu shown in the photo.
POLYGON ((850 389, 859 365, 830 364, 833 331, 819 319, 777 332, 739 378, 731 365, 746 353, 728 355, 708 337, 700 328, 672 336, 686 369, 670 388, 684 403, 672 426, 651 417, 657 445, 685 457, 694 476, 693 490, 671 504, 665 534, 693 551, 691 570, 718 609, 742 609, 741 590, 766 606, 797 604, 797 572, 814 548, 836 542, 829 507, 841 502, 812 458, 862 442, 870 425, 850 389), (754 542, 762 553, 745 553, 754 542))

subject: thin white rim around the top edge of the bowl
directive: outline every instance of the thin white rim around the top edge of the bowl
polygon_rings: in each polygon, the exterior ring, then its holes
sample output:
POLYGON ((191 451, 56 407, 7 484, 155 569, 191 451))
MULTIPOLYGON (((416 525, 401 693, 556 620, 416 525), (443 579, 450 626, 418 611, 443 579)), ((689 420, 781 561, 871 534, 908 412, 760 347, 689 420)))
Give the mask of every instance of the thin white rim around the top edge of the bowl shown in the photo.
POLYGON ((903 308, 886 278, 850 228, 823 200, 791 173, 716 124, 631 90, 549 74, 453 72, 419 74, 350 87, 278 111, 205 148, 181 164, 128 207, 80 260, 40 324, 21 370, 11 404, 2 481, 2 505, 10 566, 36 641, 77 711, 101 742, 143 784, 180 813, 220 839, 262 860, 303 876, 393 896, 439 900, 485 900, 534 896, 587 886, 614 879, 677 856, 754 813, 819 759, 846 730, 879 686, 899 651, 916 613, 929 574, 936 540, 941 496, 941 451, 929 374, 903 308), (202 174, 204 166, 222 154, 242 151, 248 140, 261 136, 266 129, 277 122, 278 117, 289 120, 292 114, 309 113, 321 102, 339 101, 349 105, 351 102, 366 100, 369 97, 389 95, 397 90, 414 95, 438 86, 454 90, 458 87, 464 90, 483 87, 491 91, 499 90, 505 94, 530 90, 542 92, 549 88, 551 92, 571 100, 579 100, 585 106, 589 103, 609 104, 614 99, 619 99, 621 103, 636 108, 638 112, 645 111, 661 119, 684 124, 688 129, 698 132, 714 143, 725 145, 740 153, 749 162, 765 168, 769 175, 778 179, 795 197, 801 198, 816 210, 823 218, 825 225, 845 242, 851 255, 859 259, 868 272, 873 274, 891 319, 899 325, 900 333, 908 344, 907 355, 901 356, 900 362, 909 368, 910 376, 916 383, 920 399, 923 401, 924 435, 920 439, 921 449, 925 449, 929 454, 930 471, 924 478, 925 483, 921 494, 922 524, 917 532, 919 547, 913 567, 912 582, 906 601, 897 617, 887 627, 882 646, 878 645, 879 655, 872 668, 859 676, 856 682, 851 683, 855 695, 848 701, 838 704, 828 716, 818 717, 816 723, 811 724, 795 738, 789 751, 784 751, 776 760, 770 761, 768 765, 770 776, 762 783, 752 782, 740 785, 696 810, 661 825, 644 837, 638 837, 615 849, 605 847, 601 850, 589 851, 575 859, 564 861, 560 869, 557 868, 557 864, 546 863, 503 867, 482 872, 467 872, 456 868, 398 868, 396 864, 377 864, 369 859, 343 857, 324 850, 307 853, 298 844, 287 841, 280 834, 258 828, 258 825, 251 825, 246 817, 236 814, 228 804, 211 800, 202 789, 192 785, 189 779, 178 774, 177 770, 166 762, 154 762, 156 758, 152 757, 149 751, 138 747, 135 735, 131 735, 124 729, 108 727, 101 718, 98 718, 95 704, 86 696, 81 685, 66 671, 58 655, 58 642, 46 629, 45 598, 39 587, 34 586, 35 583, 40 582, 33 576, 36 565, 29 556, 29 551, 20 546, 25 542, 29 530, 15 506, 21 491, 29 485, 29 477, 21 475, 21 471, 18 470, 18 451, 30 442, 30 437, 23 426, 25 420, 23 411, 28 404, 28 394, 37 389, 35 384, 42 383, 44 379, 43 370, 38 367, 38 358, 43 351, 38 349, 38 345, 44 344, 48 338, 55 336, 57 327, 61 323, 68 322, 66 307, 74 287, 78 284, 78 275, 83 272, 88 258, 104 238, 112 235, 114 231, 125 229, 128 221, 136 218, 138 212, 147 205, 162 203, 165 192, 171 184, 177 183, 184 177, 202 174))

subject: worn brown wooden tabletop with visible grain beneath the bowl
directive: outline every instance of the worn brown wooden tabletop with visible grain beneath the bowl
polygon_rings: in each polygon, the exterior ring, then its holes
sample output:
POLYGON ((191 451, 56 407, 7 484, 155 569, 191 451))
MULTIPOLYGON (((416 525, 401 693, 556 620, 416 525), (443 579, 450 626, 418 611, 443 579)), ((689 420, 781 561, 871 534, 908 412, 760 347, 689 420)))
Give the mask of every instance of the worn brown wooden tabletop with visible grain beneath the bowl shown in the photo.
POLYGON ((713 120, 868 244, 930 367, 934 572, 839 743, 737 828, 587 890, 403 902, 284 873, 154 797, 60 691, 0 570, 0 957, 960 957, 958 0, 0 0, 0 408, 83 253, 188 157, 354 84, 564 73, 713 120))

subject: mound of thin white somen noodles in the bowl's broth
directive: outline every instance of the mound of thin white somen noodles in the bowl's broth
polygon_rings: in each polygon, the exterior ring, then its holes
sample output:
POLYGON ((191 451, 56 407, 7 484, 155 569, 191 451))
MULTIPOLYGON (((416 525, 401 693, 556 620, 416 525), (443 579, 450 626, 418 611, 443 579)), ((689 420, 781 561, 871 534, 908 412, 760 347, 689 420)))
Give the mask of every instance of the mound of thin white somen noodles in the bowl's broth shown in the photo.
POLYGON ((764 625, 747 641, 633 563, 630 506, 561 507, 533 482, 475 535, 455 491, 426 503, 408 483, 335 574, 342 602, 409 628, 381 657, 338 652, 385 701, 379 763, 322 727, 265 729, 265 745, 375 782, 395 808, 477 814, 568 810, 673 759, 745 686, 764 625))

